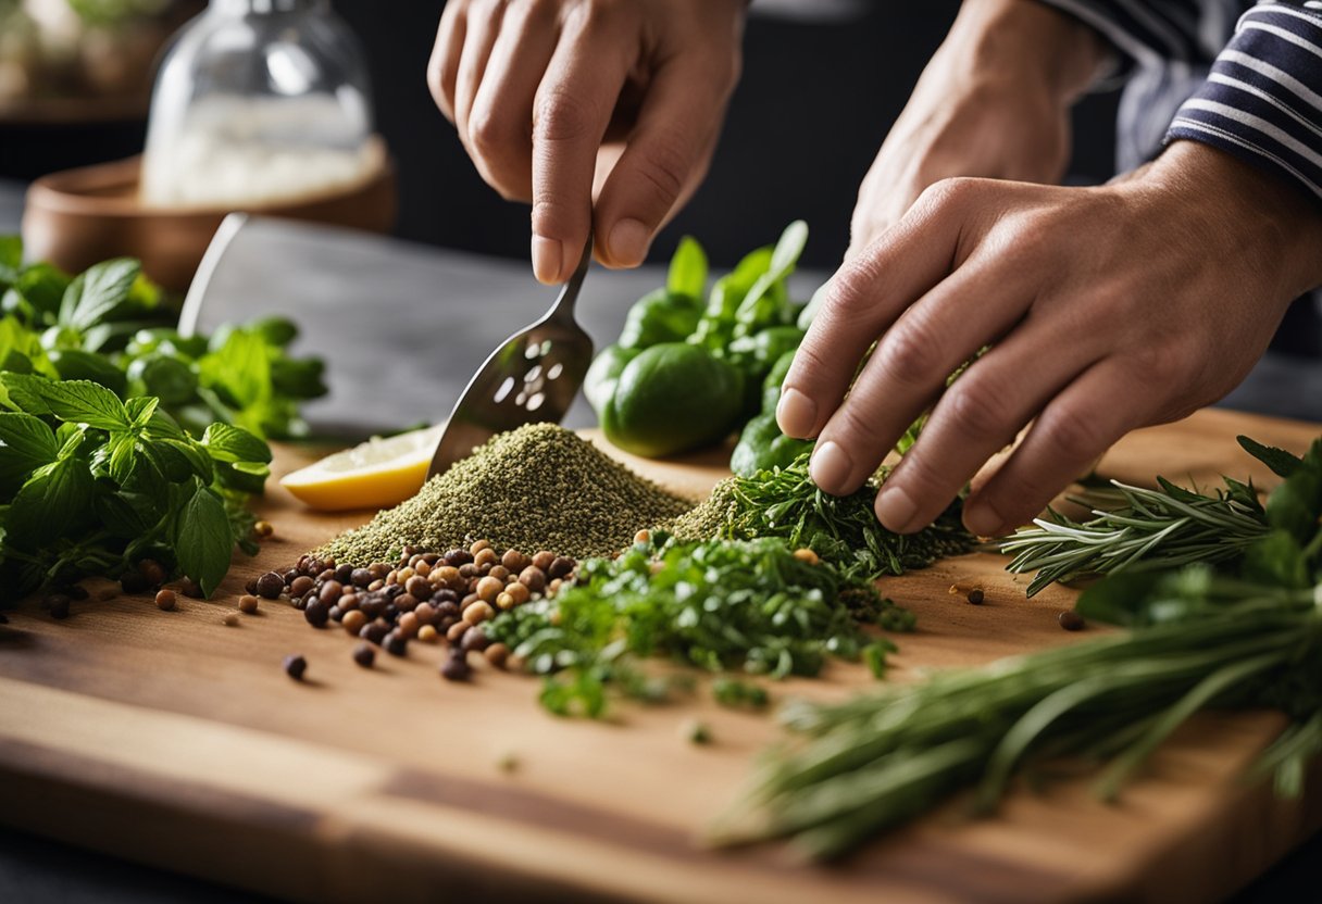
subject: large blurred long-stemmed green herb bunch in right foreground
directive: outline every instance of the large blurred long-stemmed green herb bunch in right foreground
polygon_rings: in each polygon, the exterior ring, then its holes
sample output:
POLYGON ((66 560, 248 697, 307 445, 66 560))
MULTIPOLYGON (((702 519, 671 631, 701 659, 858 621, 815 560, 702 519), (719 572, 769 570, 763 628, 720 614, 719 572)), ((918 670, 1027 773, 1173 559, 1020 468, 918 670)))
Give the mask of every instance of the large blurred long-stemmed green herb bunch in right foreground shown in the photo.
POLYGON ((715 841, 791 837, 837 856, 961 789, 988 813, 1017 773, 1060 757, 1104 764, 1096 789, 1113 800, 1208 707, 1286 712, 1252 774, 1298 794, 1322 753, 1322 440, 1302 459, 1245 445, 1285 481, 1243 555, 1220 571, 1128 570, 1084 592, 1081 615, 1130 632, 788 712, 805 739, 763 763, 715 841))

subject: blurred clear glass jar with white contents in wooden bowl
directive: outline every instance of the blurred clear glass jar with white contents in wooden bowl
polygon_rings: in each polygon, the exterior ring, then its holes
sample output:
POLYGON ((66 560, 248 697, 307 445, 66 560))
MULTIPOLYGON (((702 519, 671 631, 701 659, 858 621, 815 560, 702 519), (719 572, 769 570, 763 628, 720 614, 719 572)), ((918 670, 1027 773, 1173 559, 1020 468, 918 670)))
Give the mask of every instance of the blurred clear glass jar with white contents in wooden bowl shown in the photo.
POLYGON ((268 206, 349 190, 383 164, 364 54, 329 0, 212 0, 156 77, 141 201, 268 206))

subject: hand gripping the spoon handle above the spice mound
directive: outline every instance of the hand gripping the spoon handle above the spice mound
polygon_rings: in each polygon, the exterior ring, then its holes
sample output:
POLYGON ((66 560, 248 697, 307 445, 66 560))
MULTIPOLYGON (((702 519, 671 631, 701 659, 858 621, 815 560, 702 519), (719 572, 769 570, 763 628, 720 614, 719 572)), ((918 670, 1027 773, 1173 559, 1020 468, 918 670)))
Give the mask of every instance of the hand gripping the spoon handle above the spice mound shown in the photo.
POLYGON ((449 0, 427 82, 486 180, 533 204, 533 271, 642 263, 739 78, 747 0, 449 0), (596 204, 594 206, 594 196, 596 204))

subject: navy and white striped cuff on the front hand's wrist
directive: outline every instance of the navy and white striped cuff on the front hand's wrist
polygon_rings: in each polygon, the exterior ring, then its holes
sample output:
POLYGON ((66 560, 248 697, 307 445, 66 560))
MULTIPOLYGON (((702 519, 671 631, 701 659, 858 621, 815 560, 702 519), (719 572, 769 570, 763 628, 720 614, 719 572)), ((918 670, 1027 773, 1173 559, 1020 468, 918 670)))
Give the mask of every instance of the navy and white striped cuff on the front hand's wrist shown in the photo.
POLYGON ((1260 3, 1240 19, 1166 143, 1202 141, 1322 200, 1322 0, 1260 3))

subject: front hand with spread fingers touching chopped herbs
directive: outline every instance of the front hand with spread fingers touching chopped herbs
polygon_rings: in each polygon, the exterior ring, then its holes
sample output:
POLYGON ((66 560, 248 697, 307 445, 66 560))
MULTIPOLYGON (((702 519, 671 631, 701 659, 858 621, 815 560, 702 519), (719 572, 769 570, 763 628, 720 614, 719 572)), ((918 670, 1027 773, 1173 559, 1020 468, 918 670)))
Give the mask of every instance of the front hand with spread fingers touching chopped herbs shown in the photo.
POLYGON ((832 279, 777 420, 817 437, 813 481, 849 493, 935 403, 878 518, 919 530, 977 473, 964 523, 995 535, 1126 431, 1239 383, 1322 284, 1318 247, 1322 210, 1301 189, 1191 141, 1096 188, 945 180, 832 279))

